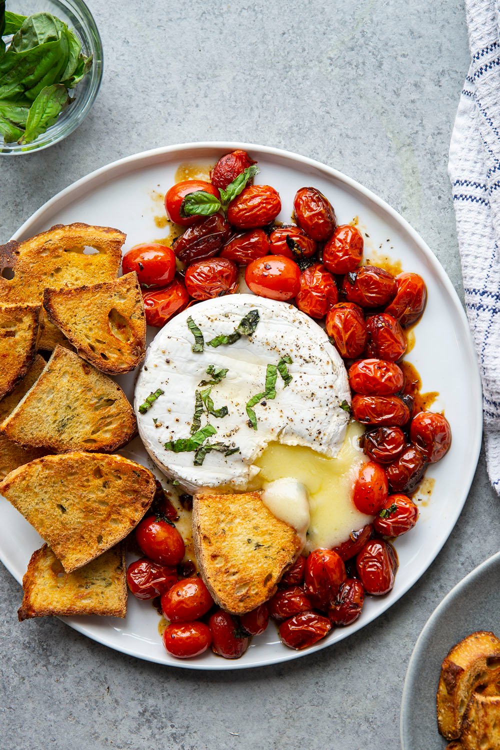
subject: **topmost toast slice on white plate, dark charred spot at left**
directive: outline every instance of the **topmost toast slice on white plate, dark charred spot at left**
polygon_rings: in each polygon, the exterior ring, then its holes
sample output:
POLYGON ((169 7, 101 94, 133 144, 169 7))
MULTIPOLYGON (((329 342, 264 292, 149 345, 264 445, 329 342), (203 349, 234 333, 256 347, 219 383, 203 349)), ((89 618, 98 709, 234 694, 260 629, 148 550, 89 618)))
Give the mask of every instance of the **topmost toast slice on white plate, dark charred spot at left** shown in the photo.
MULTIPOLYGON (((23 242, 1 245, 0 305, 41 305, 46 288, 81 287, 116 278, 125 237, 110 226, 56 224, 23 242)), ((52 323, 45 323, 39 347, 52 350, 64 336, 52 323)))

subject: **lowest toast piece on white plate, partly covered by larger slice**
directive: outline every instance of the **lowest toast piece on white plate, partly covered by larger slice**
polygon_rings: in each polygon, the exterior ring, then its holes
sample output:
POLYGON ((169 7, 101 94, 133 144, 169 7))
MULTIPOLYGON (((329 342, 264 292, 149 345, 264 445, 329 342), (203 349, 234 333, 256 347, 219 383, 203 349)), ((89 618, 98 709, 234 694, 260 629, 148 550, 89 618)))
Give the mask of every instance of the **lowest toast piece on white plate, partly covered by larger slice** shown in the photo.
POLYGON ((19 620, 45 615, 127 614, 123 544, 112 547, 73 573, 65 573, 47 544, 36 550, 22 577, 24 596, 19 620))

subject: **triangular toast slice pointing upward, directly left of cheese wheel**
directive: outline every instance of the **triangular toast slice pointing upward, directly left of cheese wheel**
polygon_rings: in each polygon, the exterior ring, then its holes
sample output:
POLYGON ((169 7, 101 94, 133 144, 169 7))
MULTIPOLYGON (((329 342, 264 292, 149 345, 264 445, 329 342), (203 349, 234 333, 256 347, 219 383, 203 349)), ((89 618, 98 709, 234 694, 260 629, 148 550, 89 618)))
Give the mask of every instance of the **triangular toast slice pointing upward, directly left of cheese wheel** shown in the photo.
POLYGON ((29 448, 106 452, 132 439, 136 418, 117 383, 77 354, 57 347, 0 429, 9 440, 29 448))

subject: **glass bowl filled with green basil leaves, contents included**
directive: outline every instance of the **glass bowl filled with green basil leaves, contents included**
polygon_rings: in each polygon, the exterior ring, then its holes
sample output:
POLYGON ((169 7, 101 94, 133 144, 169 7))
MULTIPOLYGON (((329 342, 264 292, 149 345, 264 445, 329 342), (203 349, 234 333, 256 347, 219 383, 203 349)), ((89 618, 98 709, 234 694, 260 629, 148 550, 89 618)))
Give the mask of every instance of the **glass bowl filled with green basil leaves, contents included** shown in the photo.
POLYGON ((0 0, 0 154, 57 143, 91 110, 103 49, 82 0, 0 0))

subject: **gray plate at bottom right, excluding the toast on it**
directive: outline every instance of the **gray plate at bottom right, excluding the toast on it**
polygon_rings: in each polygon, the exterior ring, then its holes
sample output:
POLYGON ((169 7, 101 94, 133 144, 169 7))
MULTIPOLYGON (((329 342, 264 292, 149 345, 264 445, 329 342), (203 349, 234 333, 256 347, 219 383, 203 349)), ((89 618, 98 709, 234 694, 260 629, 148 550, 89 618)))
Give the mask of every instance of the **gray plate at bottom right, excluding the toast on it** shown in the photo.
POLYGON ((500 637, 500 552, 469 573, 427 620, 410 658, 401 702, 403 750, 445 748, 438 733, 436 690, 442 660, 477 630, 500 637))

